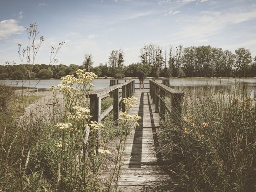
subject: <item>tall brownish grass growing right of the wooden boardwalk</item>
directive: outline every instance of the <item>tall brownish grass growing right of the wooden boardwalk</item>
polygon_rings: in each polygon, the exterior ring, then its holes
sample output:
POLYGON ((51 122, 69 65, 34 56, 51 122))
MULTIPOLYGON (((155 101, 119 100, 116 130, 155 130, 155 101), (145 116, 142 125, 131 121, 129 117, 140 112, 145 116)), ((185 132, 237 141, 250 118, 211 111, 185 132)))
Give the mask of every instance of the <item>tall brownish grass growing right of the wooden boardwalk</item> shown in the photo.
POLYGON ((177 191, 256 191, 256 99, 244 85, 228 93, 184 91, 182 125, 168 116, 160 131, 162 154, 177 191))

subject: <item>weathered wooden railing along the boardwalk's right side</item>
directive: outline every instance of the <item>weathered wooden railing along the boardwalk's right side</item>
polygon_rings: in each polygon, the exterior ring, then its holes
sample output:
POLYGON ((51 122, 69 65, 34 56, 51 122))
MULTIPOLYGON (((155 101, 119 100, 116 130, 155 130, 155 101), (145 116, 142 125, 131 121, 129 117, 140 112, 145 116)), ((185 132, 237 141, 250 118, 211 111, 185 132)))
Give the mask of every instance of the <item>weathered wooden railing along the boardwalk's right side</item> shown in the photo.
POLYGON ((149 80, 150 95, 159 113, 160 120, 165 119, 166 111, 171 119, 179 124, 181 119, 181 101, 183 93, 169 87, 170 80, 164 79, 162 84, 154 80, 149 80), (166 105, 166 97, 170 98, 170 107, 166 105))

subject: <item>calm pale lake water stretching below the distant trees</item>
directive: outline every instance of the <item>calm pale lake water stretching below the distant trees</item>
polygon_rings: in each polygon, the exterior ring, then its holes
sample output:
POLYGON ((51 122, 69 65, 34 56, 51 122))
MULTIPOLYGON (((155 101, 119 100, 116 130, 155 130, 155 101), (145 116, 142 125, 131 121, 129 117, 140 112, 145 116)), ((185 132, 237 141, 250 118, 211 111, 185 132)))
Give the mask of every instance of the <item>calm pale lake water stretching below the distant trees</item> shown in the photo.
MULTIPOLYGON (((161 80, 158 80, 159 82, 162 82, 161 80)), ((1 82, 6 82, 6 84, 9 84, 10 86, 17 86, 22 87, 22 84, 24 87, 28 87, 28 81, 22 82, 22 80, 19 80, 18 84, 16 85, 16 80, 0 80, 1 82)), ((120 81, 123 82, 123 81, 120 81)), ((242 84, 246 85, 246 90, 250 92, 250 95, 252 98, 256 98, 256 78, 246 78, 246 79, 204 79, 204 78, 180 78, 180 79, 170 79, 170 86, 176 90, 182 90, 184 87, 188 88, 192 92, 197 92, 199 90, 206 90, 207 84, 210 85, 210 87, 214 91, 218 90, 224 90, 224 92, 228 91, 228 89, 232 88, 232 85, 236 82, 240 82, 242 84)), ((38 88, 38 90, 44 91, 49 90, 50 86, 52 85, 58 85, 60 83, 60 80, 31 80, 30 87, 38 88)), ((109 79, 96 79, 92 82, 95 86, 93 87, 94 90, 99 90, 102 88, 106 88, 110 85, 109 79)), ((139 81, 136 79, 135 83, 139 83, 139 81)), ((145 88, 149 88, 149 85, 146 84, 149 83, 149 80, 145 80, 145 88)), ((138 88, 138 84, 135 85, 135 88, 138 88)))

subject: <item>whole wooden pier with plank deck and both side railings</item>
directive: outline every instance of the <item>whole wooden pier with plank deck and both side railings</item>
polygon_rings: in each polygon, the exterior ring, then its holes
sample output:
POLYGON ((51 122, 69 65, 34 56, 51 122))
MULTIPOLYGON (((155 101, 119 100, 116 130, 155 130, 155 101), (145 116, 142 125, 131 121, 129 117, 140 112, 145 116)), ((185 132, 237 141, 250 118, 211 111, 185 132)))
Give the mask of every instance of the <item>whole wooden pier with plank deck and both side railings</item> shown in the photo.
MULTIPOLYGON (((149 89, 136 89, 134 80, 110 80, 110 87, 100 93, 90 96, 92 115, 94 120, 100 121, 106 116, 106 112, 100 114, 100 102, 97 99, 106 92, 114 92, 114 119, 118 118, 119 103, 122 98, 134 95, 137 104, 129 114, 138 114, 141 120, 139 126, 132 128, 127 137, 124 150, 124 164, 118 179, 118 190, 122 192, 137 191, 172 191, 170 188, 171 178, 164 169, 161 153, 159 152, 159 141, 157 131, 160 119, 164 120, 166 114, 170 115, 174 123, 179 123, 181 116, 181 99, 183 94, 169 87, 169 79, 163 79, 162 83, 150 80, 149 89), (122 89, 122 90, 119 90, 122 89), (122 92, 122 98, 118 98, 118 92, 122 92), (170 106, 165 103, 165 98, 170 98, 170 106), (94 101, 96 100, 96 102, 94 101), (98 107, 94 107, 97 103, 98 107), (164 189, 160 189, 165 187, 164 189)), ((110 107, 111 108, 111 107, 110 107)), ((106 111, 110 111, 111 109, 106 111)), ((124 111, 122 105, 122 111, 124 111)))

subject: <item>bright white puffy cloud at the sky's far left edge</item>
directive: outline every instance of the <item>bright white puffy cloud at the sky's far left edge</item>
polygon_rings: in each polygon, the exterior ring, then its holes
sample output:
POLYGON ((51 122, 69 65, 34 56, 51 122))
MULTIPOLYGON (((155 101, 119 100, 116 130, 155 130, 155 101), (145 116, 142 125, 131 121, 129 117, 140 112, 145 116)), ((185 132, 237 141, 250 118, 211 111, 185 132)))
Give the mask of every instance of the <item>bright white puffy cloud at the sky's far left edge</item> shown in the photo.
POLYGON ((12 34, 21 34, 25 28, 14 19, 0 21, 0 40, 8 39, 12 34))

